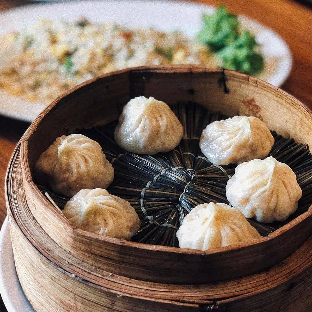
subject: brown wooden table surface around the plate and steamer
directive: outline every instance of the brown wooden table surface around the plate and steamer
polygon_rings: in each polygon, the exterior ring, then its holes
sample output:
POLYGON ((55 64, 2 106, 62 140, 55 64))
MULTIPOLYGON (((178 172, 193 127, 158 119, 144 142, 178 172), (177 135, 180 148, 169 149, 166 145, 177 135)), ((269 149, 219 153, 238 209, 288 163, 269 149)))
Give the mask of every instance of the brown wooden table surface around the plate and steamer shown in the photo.
MULTIPOLYGON (((219 5, 216 0, 199 2, 219 5)), ((0 11, 31 2, 0 0, 0 11)), ((282 86, 312 109, 312 10, 287 0, 222 0, 231 12, 251 17, 279 33, 290 46, 294 64, 282 86)), ((0 226, 6 216, 4 179, 15 145, 29 124, 0 116, 0 226)))

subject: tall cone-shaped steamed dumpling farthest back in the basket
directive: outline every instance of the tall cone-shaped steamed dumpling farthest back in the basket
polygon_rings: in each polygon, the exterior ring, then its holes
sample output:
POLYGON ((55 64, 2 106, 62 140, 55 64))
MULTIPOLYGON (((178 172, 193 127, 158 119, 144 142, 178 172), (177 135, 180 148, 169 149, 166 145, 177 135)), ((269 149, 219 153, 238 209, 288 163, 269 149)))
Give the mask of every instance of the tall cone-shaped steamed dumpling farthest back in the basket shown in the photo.
POLYGON ((170 107, 153 97, 138 96, 123 108, 114 137, 128 152, 154 155, 181 141, 183 127, 170 107))

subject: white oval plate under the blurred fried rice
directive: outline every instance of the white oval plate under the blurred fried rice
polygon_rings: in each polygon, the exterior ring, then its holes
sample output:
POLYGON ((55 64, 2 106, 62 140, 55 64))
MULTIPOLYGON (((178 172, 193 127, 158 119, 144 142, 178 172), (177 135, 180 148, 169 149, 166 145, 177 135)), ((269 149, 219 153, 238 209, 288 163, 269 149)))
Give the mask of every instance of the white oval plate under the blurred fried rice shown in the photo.
MULTIPOLYGON (((38 18, 76 20, 80 16, 91 22, 116 22, 119 25, 155 27, 161 31, 179 30, 195 38, 202 27, 202 13, 215 10, 193 2, 104 0, 69 1, 27 5, 0 13, 0 36, 34 24, 38 18)), ((292 57, 285 41, 271 29, 240 16, 240 21, 256 35, 265 58, 265 69, 259 78, 272 85, 282 85, 290 74, 292 57)), ((0 114, 33 121, 44 105, 22 100, 0 91, 0 114)))

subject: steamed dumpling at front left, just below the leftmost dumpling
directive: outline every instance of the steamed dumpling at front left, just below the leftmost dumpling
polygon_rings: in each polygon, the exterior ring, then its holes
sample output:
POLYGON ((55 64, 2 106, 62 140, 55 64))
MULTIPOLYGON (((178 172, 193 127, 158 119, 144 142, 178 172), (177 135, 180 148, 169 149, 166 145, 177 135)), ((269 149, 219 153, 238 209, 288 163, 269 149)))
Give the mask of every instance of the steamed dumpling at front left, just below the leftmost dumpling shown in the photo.
POLYGON ((63 214, 76 227, 129 240, 140 228, 140 219, 130 203, 103 188, 81 190, 65 205, 63 214))

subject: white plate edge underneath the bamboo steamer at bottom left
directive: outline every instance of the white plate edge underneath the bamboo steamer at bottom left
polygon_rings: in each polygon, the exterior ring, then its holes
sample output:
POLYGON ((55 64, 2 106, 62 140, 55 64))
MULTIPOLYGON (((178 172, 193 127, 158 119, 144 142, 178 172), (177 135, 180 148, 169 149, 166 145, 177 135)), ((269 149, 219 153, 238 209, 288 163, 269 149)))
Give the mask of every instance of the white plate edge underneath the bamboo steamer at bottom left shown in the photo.
POLYGON ((0 293, 8 312, 34 312, 17 277, 7 217, 0 231, 0 293))

